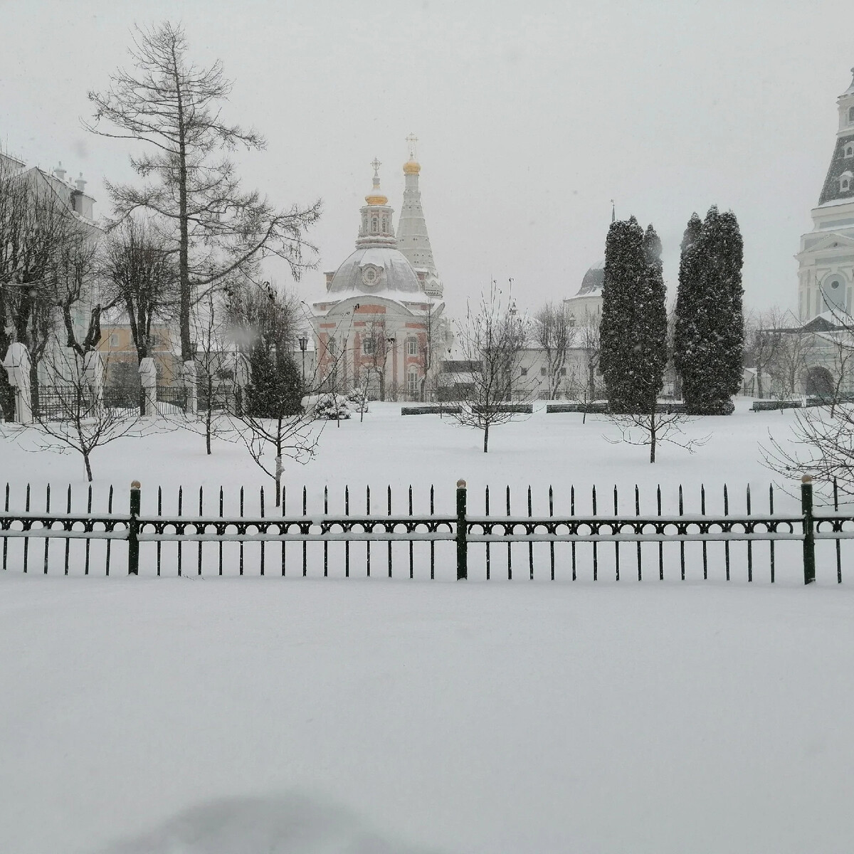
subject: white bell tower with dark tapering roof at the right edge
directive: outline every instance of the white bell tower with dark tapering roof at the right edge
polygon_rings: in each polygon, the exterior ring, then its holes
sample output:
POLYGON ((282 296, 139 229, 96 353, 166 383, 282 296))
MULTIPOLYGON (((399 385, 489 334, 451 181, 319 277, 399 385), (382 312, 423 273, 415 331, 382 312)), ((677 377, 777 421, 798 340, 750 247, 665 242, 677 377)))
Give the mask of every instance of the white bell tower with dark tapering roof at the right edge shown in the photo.
MULTIPOLYGON (((851 69, 854 73, 854 68, 851 69)), ((839 96, 839 130, 813 230, 801 237, 798 315, 802 323, 821 314, 851 313, 854 289, 854 79, 839 96)))

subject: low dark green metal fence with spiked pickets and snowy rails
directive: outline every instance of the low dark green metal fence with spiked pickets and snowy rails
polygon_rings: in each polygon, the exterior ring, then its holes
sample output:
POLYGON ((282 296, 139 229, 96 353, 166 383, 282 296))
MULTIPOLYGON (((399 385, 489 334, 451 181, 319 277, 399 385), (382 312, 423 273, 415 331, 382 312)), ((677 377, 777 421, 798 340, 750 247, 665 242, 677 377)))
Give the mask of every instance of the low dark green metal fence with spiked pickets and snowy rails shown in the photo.
MULTIPOLYGON (((722 512, 716 514, 707 512, 707 495, 702 486, 699 512, 685 512, 680 486, 678 512, 671 515, 663 513, 660 487, 652 513, 641 513, 641 504, 648 507, 650 502, 641 502, 636 486, 631 507, 634 513, 620 511, 616 486, 612 495, 609 492, 605 496, 606 505, 602 494, 592 488, 589 501, 592 512, 581 512, 581 495, 575 487, 570 487, 568 506, 556 512, 555 495, 550 487, 547 514, 538 515, 533 512, 530 487, 526 495, 527 513, 521 515, 512 512, 509 486, 497 496, 486 487, 480 515, 468 512, 469 492, 465 482, 459 481, 454 493, 455 512, 437 513, 436 490, 430 486, 429 512, 417 514, 412 486, 406 495, 404 512, 400 508, 395 512, 390 486, 379 496, 378 506, 376 494, 371 505, 370 487, 358 495, 345 487, 339 512, 330 512, 330 493, 325 487, 322 510, 318 506, 309 512, 307 487, 295 495, 283 489, 277 507, 269 506, 264 488, 260 488, 258 512, 249 515, 243 488, 228 513, 221 487, 219 494, 213 495, 213 512, 210 512, 209 493, 206 512, 203 488, 198 489, 197 502, 196 494, 193 495, 191 505, 189 493, 179 488, 177 506, 173 506, 173 512, 168 509, 164 512, 163 490, 157 488, 148 499, 152 511, 156 500, 156 513, 143 513, 143 489, 135 481, 125 513, 114 507, 113 487, 109 488, 107 506, 100 511, 93 507, 91 486, 85 495, 85 512, 79 506, 75 510, 70 485, 59 497, 51 494, 49 485, 44 494, 44 510, 37 511, 33 509, 32 489, 27 484, 23 507, 13 510, 7 483, 0 512, 2 565, 3 570, 36 569, 44 573, 51 568, 59 570, 61 566, 65 575, 81 570, 88 575, 93 568, 102 567, 109 575, 111 563, 116 559, 115 545, 121 550, 122 569, 132 575, 138 575, 142 566, 144 573, 154 574, 156 570, 157 576, 173 572, 178 576, 202 576, 205 572, 243 576, 257 571, 261 576, 280 572, 283 576, 343 577, 351 574, 370 577, 373 572, 374 576, 378 573, 391 578, 395 576, 396 558, 398 575, 402 563, 410 578, 465 579, 470 577, 472 560, 483 556, 486 579, 512 580, 515 570, 516 577, 521 574, 531 580, 546 577, 576 581, 589 577, 599 581, 608 576, 615 581, 621 577, 636 577, 641 581, 646 568, 647 576, 652 574, 660 580, 664 580, 666 569, 667 577, 675 576, 678 571, 683 581, 699 577, 722 577, 729 581, 734 573, 738 577, 746 573, 746 580, 752 582, 757 558, 754 546, 766 542, 767 577, 775 582, 778 570, 775 547, 794 541, 799 544, 798 559, 793 562, 789 553, 787 566, 796 568, 798 576, 802 570, 804 583, 809 584, 816 578, 816 541, 834 541, 836 581, 841 582, 840 544, 854 539, 854 515, 840 512, 835 485, 834 508, 814 511, 809 477, 804 477, 801 485, 800 512, 789 513, 775 512, 773 487, 768 491, 767 512, 753 512, 749 486, 745 491, 744 512, 730 512, 729 491, 724 486, 722 512), (600 512, 605 509, 608 512, 600 512), (51 550, 51 543, 56 540, 64 544, 62 547, 57 544, 51 550), (383 543, 385 548, 380 548, 377 555, 377 546, 383 543), (722 549, 713 552, 710 546, 716 543, 722 549), (175 544, 174 549, 164 550, 164 544, 175 544), (668 547, 666 561, 665 546, 668 547), (734 548, 739 549, 735 556, 734 548), (686 556, 686 549, 693 551, 686 556), (521 573, 520 552, 527 552, 521 560, 521 573)), ((586 500, 584 503, 587 505, 586 500)), ((828 560, 822 561, 822 567, 828 564, 828 560)), ((477 576, 481 574, 474 572, 471 577, 477 576)), ((766 577, 764 572, 762 577, 766 577)))

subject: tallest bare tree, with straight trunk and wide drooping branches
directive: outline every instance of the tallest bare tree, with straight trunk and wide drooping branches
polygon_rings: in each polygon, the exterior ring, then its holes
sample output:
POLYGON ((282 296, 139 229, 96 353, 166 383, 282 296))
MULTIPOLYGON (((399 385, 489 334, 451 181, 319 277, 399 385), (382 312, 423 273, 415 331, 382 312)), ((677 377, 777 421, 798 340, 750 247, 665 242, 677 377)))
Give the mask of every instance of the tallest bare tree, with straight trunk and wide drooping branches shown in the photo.
POLYGON ((196 67, 188 57, 181 26, 168 21, 150 29, 137 26, 130 50, 133 68, 118 70, 107 91, 89 93, 95 108, 91 132, 132 139, 149 152, 131 158, 143 180, 139 187, 107 184, 118 220, 139 209, 157 213, 178 258, 181 360, 193 358, 190 307, 196 290, 276 254, 295 278, 311 266, 307 229, 318 219, 320 203, 280 211, 254 191, 244 191, 225 152, 243 146, 263 149, 253 130, 220 118, 231 92, 222 63, 196 67), (102 130, 101 123, 114 126, 102 130))

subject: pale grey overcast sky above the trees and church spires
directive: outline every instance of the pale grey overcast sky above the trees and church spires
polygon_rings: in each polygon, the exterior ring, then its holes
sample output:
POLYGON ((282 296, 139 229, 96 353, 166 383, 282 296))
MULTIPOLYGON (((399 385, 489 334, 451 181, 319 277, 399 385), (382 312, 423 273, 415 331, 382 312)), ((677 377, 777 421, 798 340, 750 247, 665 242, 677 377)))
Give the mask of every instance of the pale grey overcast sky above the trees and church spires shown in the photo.
POLYGON ((418 135, 452 311, 490 278, 512 277, 523 306, 574 294, 604 254, 611 198, 618 217, 655 225, 671 294, 692 211, 732 208, 746 301, 793 305, 793 254, 854 65, 850 0, 0 0, 3 148, 82 171, 109 213, 102 179, 133 178, 129 149, 79 116, 126 64, 133 23, 165 18, 195 61, 224 61, 228 118, 267 137, 240 157, 245 184, 283 206, 324 201, 305 299, 353 249, 375 155, 400 209, 418 135))

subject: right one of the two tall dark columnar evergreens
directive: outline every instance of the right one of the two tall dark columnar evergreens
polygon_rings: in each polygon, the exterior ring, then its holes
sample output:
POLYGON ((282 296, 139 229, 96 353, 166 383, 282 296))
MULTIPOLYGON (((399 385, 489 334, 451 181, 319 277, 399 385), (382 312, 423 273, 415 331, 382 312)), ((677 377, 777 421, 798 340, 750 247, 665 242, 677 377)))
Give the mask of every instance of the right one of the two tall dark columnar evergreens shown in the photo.
POLYGON ((687 412, 728 415, 740 388, 744 313, 744 244, 734 213, 696 213, 682 240, 676 298, 674 363, 687 412))

